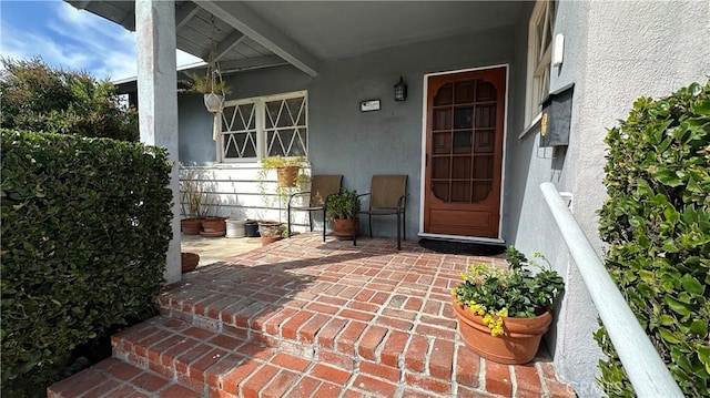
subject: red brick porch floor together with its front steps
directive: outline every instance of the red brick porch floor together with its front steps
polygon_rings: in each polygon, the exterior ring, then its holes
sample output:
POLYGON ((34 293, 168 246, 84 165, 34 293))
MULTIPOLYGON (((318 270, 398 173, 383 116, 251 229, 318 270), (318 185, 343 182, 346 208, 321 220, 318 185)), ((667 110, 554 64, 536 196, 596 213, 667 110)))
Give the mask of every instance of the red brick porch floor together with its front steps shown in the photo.
POLYGON ((184 275, 113 358, 49 397, 575 397, 546 354, 498 365, 457 335, 470 261, 390 239, 304 234, 184 275))

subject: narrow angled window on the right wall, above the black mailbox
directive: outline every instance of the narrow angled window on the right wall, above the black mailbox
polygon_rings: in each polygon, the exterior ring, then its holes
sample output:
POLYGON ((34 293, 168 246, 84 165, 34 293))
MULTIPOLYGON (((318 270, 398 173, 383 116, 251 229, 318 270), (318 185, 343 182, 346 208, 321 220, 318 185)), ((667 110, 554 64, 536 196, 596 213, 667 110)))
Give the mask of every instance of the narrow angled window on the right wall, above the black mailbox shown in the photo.
POLYGON ((537 0, 530 16, 527 99, 525 106, 526 126, 536 121, 542 111, 541 102, 550 91, 555 11, 556 2, 554 0, 537 0))

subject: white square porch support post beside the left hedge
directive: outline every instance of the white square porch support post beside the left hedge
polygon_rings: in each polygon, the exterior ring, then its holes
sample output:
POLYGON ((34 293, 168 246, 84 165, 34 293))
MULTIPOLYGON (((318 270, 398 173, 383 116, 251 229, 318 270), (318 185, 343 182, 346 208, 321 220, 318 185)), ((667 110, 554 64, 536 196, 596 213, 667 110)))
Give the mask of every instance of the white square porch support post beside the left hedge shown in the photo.
POLYGON ((168 283, 180 280, 180 175, 178 171, 178 76, 175 61, 175 2, 135 1, 138 53, 138 103, 141 142, 163 146, 175 166, 173 192, 173 238, 168 248, 168 283))

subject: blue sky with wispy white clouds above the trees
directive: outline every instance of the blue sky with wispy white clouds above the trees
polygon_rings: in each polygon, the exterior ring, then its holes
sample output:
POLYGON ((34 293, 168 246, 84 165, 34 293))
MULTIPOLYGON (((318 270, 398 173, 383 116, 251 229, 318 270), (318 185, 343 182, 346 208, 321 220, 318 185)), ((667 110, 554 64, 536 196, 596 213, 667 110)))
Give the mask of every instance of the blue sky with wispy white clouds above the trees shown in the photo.
MULTIPOLYGON (((135 76, 135 33, 62 0, 0 0, 0 54, 41 57, 99 79, 135 76)), ((178 64, 200 59, 182 51, 178 64)))

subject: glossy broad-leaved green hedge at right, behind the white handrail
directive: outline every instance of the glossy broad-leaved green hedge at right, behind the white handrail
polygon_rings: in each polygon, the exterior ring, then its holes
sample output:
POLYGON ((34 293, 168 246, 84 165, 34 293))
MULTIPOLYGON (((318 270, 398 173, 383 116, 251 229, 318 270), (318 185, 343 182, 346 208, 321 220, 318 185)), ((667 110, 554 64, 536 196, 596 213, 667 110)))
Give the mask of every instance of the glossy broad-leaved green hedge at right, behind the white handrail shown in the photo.
MULTIPOLYGON (((687 396, 710 396, 710 82, 641 98, 609 131, 606 266, 687 396)), ((632 397, 604 329, 600 385, 632 397)))

